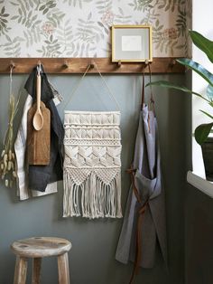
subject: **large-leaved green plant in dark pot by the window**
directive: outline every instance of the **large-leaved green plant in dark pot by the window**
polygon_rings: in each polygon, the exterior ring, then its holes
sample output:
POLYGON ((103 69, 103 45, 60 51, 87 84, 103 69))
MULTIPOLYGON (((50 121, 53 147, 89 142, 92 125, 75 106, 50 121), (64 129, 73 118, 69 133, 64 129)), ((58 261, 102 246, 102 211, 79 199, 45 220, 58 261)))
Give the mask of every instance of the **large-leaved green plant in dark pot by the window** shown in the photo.
MULTIPOLYGON (((202 34, 190 31, 190 38, 192 42, 201 50, 205 52, 208 56, 210 62, 213 63, 213 42, 208 40, 208 38, 204 37, 202 34)), ((158 80, 148 83, 146 86, 152 84, 154 86, 165 87, 174 90, 181 90, 187 93, 191 93, 195 96, 198 96, 200 99, 204 99, 208 105, 213 108, 213 74, 206 70, 202 65, 198 62, 194 62, 189 58, 181 58, 178 59, 177 62, 186 66, 191 71, 195 71, 201 76, 204 80, 208 82, 208 88, 206 91, 206 97, 202 96, 198 92, 190 90, 184 86, 179 86, 171 83, 167 80, 158 80)), ((204 110, 200 110, 205 116, 212 119, 212 122, 206 124, 200 124, 194 132, 194 137, 202 147, 202 154, 204 159, 204 166, 206 171, 206 176, 208 180, 213 181, 213 138, 208 137, 211 128, 213 127, 213 116, 204 110), (208 168, 209 167, 209 168, 208 168)))

